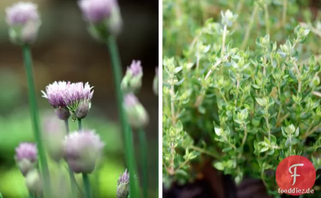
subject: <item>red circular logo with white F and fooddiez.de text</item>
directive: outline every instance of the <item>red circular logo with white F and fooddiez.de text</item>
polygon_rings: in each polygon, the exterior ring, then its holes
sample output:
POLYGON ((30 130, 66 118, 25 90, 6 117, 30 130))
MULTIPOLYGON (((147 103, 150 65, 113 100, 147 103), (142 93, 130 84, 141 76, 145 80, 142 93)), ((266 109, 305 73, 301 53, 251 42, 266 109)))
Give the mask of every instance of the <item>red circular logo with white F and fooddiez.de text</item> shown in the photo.
POLYGON ((311 189, 315 178, 316 171, 313 164, 307 158, 299 155, 283 159, 276 171, 279 193, 290 195, 313 193, 311 189))

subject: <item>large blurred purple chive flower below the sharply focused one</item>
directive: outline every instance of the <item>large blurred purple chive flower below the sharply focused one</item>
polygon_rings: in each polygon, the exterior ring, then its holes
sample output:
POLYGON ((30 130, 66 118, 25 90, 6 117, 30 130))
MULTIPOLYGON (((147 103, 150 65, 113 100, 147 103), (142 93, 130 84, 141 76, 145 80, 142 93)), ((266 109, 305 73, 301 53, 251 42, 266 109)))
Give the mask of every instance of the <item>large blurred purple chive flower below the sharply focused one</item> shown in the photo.
POLYGON ((91 173, 103 147, 94 131, 75 131, 64 140, 64 157, 75 173, 91 173))

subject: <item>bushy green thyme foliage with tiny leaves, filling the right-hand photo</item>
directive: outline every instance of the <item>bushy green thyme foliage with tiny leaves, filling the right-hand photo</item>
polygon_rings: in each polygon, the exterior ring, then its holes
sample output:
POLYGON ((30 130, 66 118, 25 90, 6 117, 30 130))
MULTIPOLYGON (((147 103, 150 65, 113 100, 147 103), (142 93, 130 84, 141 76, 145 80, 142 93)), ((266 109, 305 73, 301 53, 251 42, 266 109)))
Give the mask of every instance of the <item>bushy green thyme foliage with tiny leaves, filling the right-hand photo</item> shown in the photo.
MULTIPOLYGON (((185 11, 182 24, 190 22, 188 16, 206 12, 178 2, 175 9, 185 11)), ((275 195, 278 186, 271 172, 285 157, 307 156, 319 169, 321 69, 319 56, 311 56, 320 52, 319 30, 309 24, 311 19, 308 24, 294 21, 300 17, 293 11, 298 4, 222 1, 221 7, 212 5, 223 10, 220 19, 200 25, 194 18, 194 38, 182 35, 178 46, 174 32, 183 31, 175 24, 180 19, 170 9, 173 1, 164 4, 165 183, 195 176, 190 164, 201 156, 210 157, 237 183, 244 176, 262 179, 275 195)))

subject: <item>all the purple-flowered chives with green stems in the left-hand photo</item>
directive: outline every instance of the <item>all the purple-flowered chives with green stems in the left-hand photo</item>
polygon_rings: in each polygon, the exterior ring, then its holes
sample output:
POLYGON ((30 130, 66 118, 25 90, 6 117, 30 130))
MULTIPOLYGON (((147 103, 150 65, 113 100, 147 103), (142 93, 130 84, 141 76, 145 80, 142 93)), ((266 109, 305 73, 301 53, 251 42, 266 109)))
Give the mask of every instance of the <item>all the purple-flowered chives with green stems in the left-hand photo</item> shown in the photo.
MULTIPOLYGON (((148 124, 149 118, 135 95, 142 85, 141 61, 134 60, 123 76, 116 43, 116 38, 122 30, 122 18, 117 1, 81 0, 78 6, 91 35, 108 46, 111 55, 118 113, 125 140, 125 161, 128 167, 128 170, 126 169, 118 178, 117 197, 147 198, 147 141, 144 127, 148 124), (140 140, 139 151, 142 155, 141 192, 138 188, 138 179, 136 179, 137 167, 133 147, 133 134, 136 132, 140 140)), ((31 45, 36 40, 41 25, 40 15, 37 5, 33 3, 14 4, 6 10, 6 14, 10 39, 15 44, 19 44, 23 51, 28 80, 35 143, 21 143, 16 148, 15 160, 26 179, 29 197, 49 198, 53 196, 46 158, 48 156, 56 162, 57 166, 62 166, 62 161, 67 163, 71 188, 69 197, 92 198, 89 176, 95 170, 97 160, 104 148, 104 143, 95 130, 82 126, 91 108, 93 87, 88 82, 72 83, 69 81, 53 82, 46 86, 45 90, 41 91, 42 97, 48 100, 56 116, 64 123, 65 129, 57 127, 58 131, 44 133, 44 138, 42 138, 31 56, 31 45), (70 121, 78 122, 78 130, 70 132, 70 121), (75 173, 82 174, 83 190, 75 179, 75 173)), ((155 79, 158 80, 157 75, 155 79)), ((158 86, 155 81, 153 90, 158 86)))

